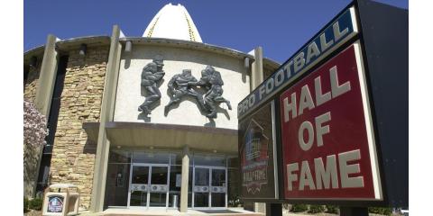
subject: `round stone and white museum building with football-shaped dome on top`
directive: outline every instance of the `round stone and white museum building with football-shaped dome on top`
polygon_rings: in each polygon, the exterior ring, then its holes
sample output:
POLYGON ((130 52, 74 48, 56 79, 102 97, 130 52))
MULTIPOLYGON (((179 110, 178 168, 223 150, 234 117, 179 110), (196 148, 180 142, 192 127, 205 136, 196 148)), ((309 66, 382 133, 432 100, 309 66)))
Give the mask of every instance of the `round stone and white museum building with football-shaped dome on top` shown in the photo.
POLYGON ((280 66, 262 48, 204 43, 166 4, 143 37, 49 35, 23 60, 24 99, 50 130, 25 149, 24 195, 70 183, 90 211, 239 205, 237 103, 280 66))

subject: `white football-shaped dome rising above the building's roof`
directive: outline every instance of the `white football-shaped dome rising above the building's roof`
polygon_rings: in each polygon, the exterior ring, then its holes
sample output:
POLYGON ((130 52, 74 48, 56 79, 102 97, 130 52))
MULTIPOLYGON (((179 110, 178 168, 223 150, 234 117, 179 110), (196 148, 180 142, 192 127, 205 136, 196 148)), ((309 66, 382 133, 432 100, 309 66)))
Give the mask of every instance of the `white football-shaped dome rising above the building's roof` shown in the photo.
POLYGON ((203 42, 187 9, 181 5, 165 4, 143 33, 148 38, 168 38, 203 42))

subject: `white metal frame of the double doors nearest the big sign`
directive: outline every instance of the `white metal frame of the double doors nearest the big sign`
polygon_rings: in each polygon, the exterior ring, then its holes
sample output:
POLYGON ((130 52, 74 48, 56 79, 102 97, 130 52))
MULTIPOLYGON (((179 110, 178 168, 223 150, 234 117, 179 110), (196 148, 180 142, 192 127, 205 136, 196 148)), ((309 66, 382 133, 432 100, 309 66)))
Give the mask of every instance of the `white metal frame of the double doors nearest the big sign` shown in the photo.
POLYGON ((192 166, 192 190, 191 190, 191 208, 194 210, 209 210, 209 209, 213 209, 213 210, 218 210, 218 209, 226 209, 227 208, 227 193, 228 193, 228 182, 227 182, 227 166, 192 166), (209 190, 207 192, 207 197, 208 197, 208 206, 207 207, 195 207, 195 203, 194 203, 194 198, 195 198, 195 192, 194 192, 194 187, 196 185, 196 168, 207 168, 209 170, 209 181, 207 183, 207 186, 209 187, 209 190), (210 190, 212 187, 212 170, 213 169, 219 169, 219 170, 226 170, 226 204, 224 207, 213 207, 212 206, 212 191, 210 190))

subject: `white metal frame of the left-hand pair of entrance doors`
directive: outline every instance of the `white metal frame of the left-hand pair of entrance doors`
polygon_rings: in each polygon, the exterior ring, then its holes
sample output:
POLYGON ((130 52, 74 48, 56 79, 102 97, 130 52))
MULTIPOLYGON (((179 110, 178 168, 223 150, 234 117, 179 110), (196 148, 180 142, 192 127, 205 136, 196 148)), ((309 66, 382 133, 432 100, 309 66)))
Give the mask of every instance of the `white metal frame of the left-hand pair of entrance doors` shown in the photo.
POLYGON ((128 202, 127 202, 127 208, 131 209, 167 209, 169 207, 169 192, 170 192, 170 161, 169 164, 150 164, 150 163, 131 163, 131 168, 129 172, 129 186, 128 186, 128 202), (146 198, 146 206, 131 206, 131 184, 133 182, 133 169, 134 166, 148 166, 149 167, 149 174, 147 179, 147 185, 149 190, 146 192, 147 198, 146 198), (167 167, 167 192, 165 197, 165 207, 151 207, 151 181, 152 181, 152 166, 158 166, 158 167, 167 167))

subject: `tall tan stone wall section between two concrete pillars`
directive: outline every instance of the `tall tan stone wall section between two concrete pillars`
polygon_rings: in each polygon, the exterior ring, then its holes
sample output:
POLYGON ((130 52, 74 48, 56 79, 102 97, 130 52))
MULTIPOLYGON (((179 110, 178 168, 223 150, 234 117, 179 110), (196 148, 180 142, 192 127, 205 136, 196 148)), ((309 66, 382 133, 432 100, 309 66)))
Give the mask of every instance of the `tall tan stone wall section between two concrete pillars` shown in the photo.
POLYGON ((108 49, 88 48, 86 57, 78 49, 69 52, 52 150, 51 184, 78 185, 84 208, 90 205, 96 143, 88 140, 82 123, 99 121, 108 49))

